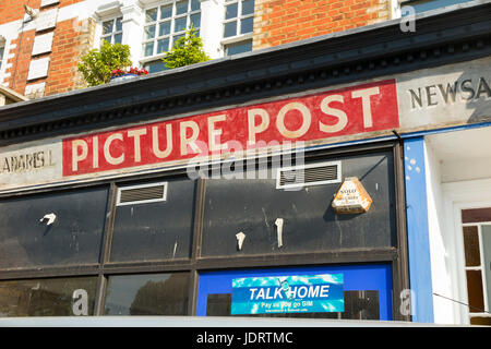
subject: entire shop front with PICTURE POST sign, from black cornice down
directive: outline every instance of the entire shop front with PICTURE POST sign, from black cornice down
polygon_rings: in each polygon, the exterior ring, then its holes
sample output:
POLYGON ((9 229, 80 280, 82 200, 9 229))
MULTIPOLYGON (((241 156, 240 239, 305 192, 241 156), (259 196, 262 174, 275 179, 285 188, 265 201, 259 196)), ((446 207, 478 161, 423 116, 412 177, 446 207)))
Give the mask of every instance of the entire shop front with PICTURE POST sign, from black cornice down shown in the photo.
POLYGON ((443 137, 489 133, 487 10, 4 107, 0 316, 466 323, 489 204, 462 206, 476 264, 440 215, 470 178, 443 137))

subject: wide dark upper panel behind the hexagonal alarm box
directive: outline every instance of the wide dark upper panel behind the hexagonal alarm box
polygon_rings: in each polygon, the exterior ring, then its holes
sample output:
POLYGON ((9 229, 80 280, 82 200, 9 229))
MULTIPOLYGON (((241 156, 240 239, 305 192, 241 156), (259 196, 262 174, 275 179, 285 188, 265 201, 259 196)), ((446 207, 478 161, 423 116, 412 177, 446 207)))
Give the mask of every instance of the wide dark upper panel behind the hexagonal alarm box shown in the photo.
MULTIPOLYGON (((276 171, 272 171, 271 179, 209 179, 206 183, 202 255, 394 246, 392 154, 336 160, 342 161, 342 177, 357 177, 371 196, 373 203, 367 213, 334 213, 332 201, 342 183, 286 191, 276 189, 276 171), (284 220, 283 246, 278 246, 275 225, 278 218, 284 220), (246 234, 241 250, 236 237, 239 232, 246 234)), ((254 176, 259 178, 258 173, 254 176)))

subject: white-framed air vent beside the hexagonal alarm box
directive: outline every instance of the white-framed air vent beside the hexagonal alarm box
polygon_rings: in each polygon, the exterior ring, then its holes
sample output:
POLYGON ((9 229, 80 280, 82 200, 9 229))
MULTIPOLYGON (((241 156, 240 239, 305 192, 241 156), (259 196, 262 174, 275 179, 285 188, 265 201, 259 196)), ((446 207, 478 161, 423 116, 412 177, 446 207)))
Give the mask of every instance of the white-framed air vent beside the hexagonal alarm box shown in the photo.
POLYGON ((340 161, 320 163, 279 168, 276 177, 276 188, 301 188, 309 185, 340 183, 340 161))

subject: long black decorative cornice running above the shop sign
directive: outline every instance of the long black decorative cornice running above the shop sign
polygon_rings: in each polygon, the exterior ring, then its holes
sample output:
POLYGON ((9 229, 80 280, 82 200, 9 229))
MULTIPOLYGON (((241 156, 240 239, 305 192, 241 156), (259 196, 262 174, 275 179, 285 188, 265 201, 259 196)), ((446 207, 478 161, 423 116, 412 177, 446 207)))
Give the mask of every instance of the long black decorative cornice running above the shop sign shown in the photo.
POLYGON ((491 55, 491 1, 0 108, 0 145, 95 131, 491 55))

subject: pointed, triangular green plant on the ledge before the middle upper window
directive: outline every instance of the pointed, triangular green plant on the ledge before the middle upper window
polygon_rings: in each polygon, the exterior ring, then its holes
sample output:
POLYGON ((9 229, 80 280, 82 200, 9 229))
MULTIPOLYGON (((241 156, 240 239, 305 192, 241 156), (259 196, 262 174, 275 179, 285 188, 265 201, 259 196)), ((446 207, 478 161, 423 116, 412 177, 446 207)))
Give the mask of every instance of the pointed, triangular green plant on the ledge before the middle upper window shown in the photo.
POLYGON ((196 29, 191 26, 185 35, 178 39, 172 49, 163 59, 169 69, 185 67, 208 61, 211 58, 203 50, 203 41, 196 36, 196 29))

